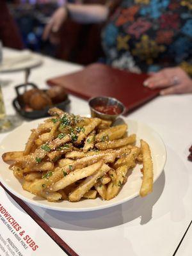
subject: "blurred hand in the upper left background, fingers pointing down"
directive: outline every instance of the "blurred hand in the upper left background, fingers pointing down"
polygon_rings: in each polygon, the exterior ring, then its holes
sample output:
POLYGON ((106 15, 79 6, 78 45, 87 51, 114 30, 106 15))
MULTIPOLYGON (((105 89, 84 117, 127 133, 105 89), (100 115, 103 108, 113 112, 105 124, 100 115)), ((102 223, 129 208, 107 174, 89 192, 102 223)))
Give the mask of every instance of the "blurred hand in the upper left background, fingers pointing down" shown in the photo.
POLYGON ((45 26, 44 34, 42 36, 43 40, 47 40, 47 38, 51 35, 51 32, 56 33, 61 28, 63 22, 67 19, 67 8, 65 6, 60 7, 53 13, 50 22, 45 26))

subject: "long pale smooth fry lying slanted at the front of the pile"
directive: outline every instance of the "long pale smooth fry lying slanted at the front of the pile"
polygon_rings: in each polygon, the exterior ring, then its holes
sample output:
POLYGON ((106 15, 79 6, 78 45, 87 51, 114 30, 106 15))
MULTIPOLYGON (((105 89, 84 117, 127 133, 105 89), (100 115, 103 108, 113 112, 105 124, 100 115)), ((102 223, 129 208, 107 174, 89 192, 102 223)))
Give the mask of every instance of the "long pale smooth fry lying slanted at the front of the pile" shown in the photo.
POLYGON ((99 161, 98 163, 92 164, 88 167, 83 169, 77 169, 74 172, 68 173, 65 177, 63 177, 58 182, 54 183, 50 188, 49 191, 58 191, 60 189, 66 188, 70 184, 76 182, 77 180, 86 178, 93 173, 97 172, 99 168, 102 166, 103 162, 99 161))

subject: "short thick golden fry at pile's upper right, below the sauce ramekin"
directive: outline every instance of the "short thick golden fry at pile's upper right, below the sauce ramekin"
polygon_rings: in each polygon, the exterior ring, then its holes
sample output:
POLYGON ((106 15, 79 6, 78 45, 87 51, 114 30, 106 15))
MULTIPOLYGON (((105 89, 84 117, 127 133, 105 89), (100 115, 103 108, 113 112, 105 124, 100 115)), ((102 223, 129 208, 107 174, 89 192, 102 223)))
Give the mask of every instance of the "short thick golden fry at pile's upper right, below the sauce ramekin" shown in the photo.
POLYGON ((99 134, 96 135, 95 140, 97 142, 117 140, 117 139, 122 138, 122 136, 124 135, 126 130, 127 130, 127 124, 116 125, 114 127, 110 127, 109 129, 106 129, 102 132, 99 132, 99 134))

